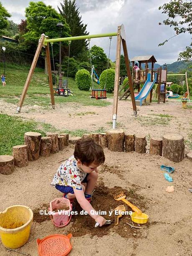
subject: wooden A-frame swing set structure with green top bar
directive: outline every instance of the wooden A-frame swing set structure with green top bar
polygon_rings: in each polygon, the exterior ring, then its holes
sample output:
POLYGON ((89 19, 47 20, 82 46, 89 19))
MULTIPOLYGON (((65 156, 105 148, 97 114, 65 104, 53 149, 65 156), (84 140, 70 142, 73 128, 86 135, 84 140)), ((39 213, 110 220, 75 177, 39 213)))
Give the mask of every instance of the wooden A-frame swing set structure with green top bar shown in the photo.
POLYGON ((21 107, 23 106, 23 101, 25 99, 25 95, 27 94, 27 90, 28 90, 30 81, 32 79, 32 75, 33 75, 35 66, 37 64, 38 57, 40 55, 42 47, 45 48, 46 57, 47 57, 49 87, 50 87, 50 94, 51 94, 51 105, 52 105, 52 108, 55 109, 55 99, 54 99, 54 93, 53 93, 53 81, 52 81, 52 74, 51 74, 51 57, 50 57, 49 43, 51 43, 51 42, 52 43, 61 42, 61 41, 68 41, 69 42, 69 41, 73 41, 73 40, 84 40, 84 39, 91 40, 91 38, 103 38, 103 37, 112 38, 112 36, 117 37, 115 82, 114 82, 114 100, 113 100, 113 113, 112 113, 113 129, 116 129, 116 120, 117 120, 121 43, 122 43, 123 51, 124 51, 124 58, 125 58, 127 76, 128 76, 128 79, 129 79, 129 88, 130 88, 130 92, 131 92, 131 101, 132 101, 132 106, 133 106, 133 112, 134 112, 134 115, 136 117, 137 116, 136 102, 135 102, 135 97, 134 97, 133 81, 132 81, 132 78, 131 78, 131 70, 130 70, 130 66, 129 66, 129 57, 128 57, 128 51, 127 51, 127 46, 126 46, 126 35, 125 35, 125 30, 124 30, 124 25, 123 24, 118 26, 117 32, 106 33, 106 34, 82 35, 82 36, 74 36, 74 37, 67 37, 67 38, 54 38, 54 39, 48 39, 48 36, 46 36, 45 34, 42 34, 40 39, 39 39, 38 47, 37 47, 37 50, 35 52, 33 62, 31 64, 30 71, 29 71, 27 79, 25 81, 25 85, 24 85, 23 92, 22 92, 21 97, 20 97, 20 101, 18 102, 18 107, 17 107, 16 113, 19 113, 21 111, 21 107))

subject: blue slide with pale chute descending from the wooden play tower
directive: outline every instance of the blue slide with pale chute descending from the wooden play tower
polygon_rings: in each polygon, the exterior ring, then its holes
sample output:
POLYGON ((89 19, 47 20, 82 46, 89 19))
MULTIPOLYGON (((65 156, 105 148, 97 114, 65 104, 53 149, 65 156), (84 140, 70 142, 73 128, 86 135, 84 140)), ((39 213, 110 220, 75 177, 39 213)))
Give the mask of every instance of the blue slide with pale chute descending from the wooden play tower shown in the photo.
POLYGON ((151 82, 151 74, 147 74, 147 80, 144 83, 143 88, 139 94, 135 97, 135 101, 140 101, 140 106, 142 106, 142 101, 147 98, 149 92, 151 91, 154 83, 157 81, 157 73, 155 73, 154 80, 151 82))

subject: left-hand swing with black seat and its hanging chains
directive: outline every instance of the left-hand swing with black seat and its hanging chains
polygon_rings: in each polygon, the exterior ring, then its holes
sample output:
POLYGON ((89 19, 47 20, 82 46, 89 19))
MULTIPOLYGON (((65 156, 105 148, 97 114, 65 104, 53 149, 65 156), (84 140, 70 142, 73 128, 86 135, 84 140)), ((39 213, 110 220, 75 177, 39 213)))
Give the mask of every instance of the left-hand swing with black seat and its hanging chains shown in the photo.
MULTIPOLYGON (((68 66, 67 66, 67 79, 63 81, 63 87, 59 88, 53 88, 54 95, 56 96, 73 96, 73 91, 68 89, 68 69, 69 69, 69 57, 70 57, 70 46, 71 46, 71 41, 69 42, 69 53, 68 53, 68 66)), ((53 43, 51 43, 51 50, 52 50, 52 56, 53 56, 53 43)), ((53 58, 53 68, 55 71, 55 63, 54 63, 54 58, 53 58)))

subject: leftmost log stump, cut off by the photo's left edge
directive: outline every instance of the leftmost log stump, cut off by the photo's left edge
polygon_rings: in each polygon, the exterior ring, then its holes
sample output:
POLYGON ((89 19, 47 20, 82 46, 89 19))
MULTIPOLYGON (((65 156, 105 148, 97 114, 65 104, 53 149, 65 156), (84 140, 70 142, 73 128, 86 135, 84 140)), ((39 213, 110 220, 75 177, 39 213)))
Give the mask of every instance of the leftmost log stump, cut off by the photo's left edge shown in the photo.
POLYGON ((9 175, 14 170, 14 158, 11 155, 0 155, 0 173, 9 175))

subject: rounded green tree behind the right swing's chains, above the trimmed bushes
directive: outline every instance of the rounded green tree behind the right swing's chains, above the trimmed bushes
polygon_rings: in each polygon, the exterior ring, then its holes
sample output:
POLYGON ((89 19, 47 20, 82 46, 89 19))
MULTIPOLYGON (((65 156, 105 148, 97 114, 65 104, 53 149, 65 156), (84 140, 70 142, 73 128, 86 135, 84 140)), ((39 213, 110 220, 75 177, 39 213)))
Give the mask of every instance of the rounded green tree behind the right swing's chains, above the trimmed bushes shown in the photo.
MULTIPOLYGON (((94 65, 95 69, 97 70, 97 74, 100 76, 102 71, 107 68, 108 58, 104 53, 104 49, 99 46, 92 46, 91 47, 91 61, 92 65, 94 65)), ((109 68, 111 66, 109 65, 109 68)))

